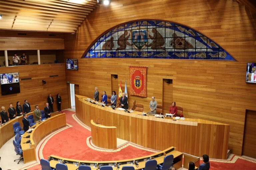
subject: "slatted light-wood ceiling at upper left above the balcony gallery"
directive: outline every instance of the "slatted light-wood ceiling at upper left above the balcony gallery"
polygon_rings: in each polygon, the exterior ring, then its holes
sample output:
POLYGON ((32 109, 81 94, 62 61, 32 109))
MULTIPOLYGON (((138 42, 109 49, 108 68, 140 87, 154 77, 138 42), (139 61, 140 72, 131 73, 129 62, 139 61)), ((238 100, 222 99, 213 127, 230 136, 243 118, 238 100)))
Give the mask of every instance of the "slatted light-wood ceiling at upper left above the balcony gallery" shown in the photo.
POLYGON ((97 0, 0 0, 0 29, 74 33, 97 0))

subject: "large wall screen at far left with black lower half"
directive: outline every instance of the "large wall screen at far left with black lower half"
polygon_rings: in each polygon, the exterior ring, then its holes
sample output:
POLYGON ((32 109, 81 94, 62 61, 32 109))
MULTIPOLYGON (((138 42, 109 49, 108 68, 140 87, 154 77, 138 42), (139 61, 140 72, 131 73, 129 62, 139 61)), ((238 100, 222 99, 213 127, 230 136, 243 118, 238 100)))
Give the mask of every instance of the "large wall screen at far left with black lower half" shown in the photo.
POLYGON ((19 73, 0 74, 2 95, 20 93, 19 73))

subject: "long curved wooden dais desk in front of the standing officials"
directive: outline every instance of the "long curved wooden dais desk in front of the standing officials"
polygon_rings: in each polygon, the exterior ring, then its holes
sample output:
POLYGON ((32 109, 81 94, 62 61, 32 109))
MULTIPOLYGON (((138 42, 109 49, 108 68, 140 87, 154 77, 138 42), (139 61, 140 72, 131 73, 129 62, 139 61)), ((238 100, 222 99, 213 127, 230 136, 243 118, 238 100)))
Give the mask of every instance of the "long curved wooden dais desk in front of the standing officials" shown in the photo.
POLYGON ((126 113, 101 107, 75 95, 76 116, 91 127, 91 120, 103 119, 105 126, 117 127, 117 137, 156 150, 174 146, 180 152, 195 156, 208 154, 211 158, 226 159, 229 125, 201 119, 171 120, 141 116, 140 112, 126 113))

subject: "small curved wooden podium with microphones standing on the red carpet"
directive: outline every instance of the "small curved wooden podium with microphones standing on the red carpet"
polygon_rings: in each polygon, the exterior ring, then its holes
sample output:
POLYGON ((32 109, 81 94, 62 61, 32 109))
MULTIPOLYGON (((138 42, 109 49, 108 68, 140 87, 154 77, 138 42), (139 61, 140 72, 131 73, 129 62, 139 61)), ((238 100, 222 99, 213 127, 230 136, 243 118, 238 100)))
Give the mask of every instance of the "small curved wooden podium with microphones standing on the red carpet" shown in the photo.
POLYGON ((92 143, 104 149, 116 149, 116 127, 103 126, 96 124, 91 120, 92 143))

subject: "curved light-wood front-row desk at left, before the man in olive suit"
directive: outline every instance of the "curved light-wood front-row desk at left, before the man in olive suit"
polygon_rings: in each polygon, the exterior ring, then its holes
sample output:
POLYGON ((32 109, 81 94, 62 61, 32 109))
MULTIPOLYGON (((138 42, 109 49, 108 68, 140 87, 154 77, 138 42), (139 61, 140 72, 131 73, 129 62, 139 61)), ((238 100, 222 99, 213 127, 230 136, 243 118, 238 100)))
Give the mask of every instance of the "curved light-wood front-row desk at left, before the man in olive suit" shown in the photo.
POLYGON ((36 160, 36 146, 48 134, 66 126, 66 114, 58 114, 51 118, 35 124, 31 133, 26 132, 21 139, 24 163, 36 160), (26 136, 30 135, 29 138, 26 136), (25 143, 30 140, 30 143, 25 143))

